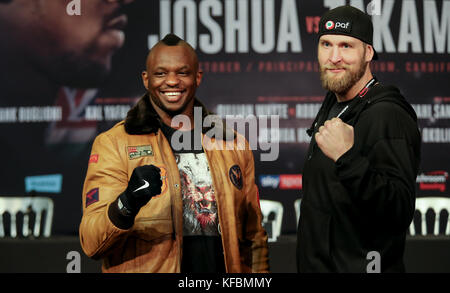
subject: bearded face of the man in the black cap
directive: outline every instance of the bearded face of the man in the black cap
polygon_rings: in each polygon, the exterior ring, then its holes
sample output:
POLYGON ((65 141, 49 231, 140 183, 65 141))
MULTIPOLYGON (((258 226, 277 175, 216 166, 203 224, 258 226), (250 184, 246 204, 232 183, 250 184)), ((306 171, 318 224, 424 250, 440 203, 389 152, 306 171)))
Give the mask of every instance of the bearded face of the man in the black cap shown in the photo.
POLYGON ((345 95, 368 70, 372 59, 368 45, 344 35, 323 35, 319 39, 320 79, 326 90, 345 95))

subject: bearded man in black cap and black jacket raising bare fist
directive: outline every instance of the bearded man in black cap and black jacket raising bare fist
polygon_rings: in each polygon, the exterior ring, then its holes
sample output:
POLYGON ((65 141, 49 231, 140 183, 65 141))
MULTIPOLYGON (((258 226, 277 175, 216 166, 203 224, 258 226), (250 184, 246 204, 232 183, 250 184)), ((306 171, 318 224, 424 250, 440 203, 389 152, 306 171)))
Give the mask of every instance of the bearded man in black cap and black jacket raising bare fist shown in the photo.
POLYGON ((377 81, 370 17, 351 6, 319 23, 328 90, 303 169, 300 272, 404 272, 420 162, 417 117, 400 91, 377 81))

